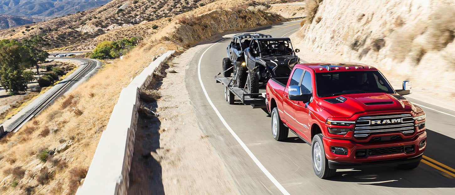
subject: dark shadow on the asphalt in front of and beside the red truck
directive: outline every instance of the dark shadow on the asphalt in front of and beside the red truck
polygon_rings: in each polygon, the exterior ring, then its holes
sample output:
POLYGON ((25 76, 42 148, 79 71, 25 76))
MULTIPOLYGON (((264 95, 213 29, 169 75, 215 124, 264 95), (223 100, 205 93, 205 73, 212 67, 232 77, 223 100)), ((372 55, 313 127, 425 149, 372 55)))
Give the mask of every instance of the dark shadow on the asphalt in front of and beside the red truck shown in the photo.
MULTIPOLYGON (((455 140, 433 132, 427 131, 427 146, 424 152, 424 160, 443 170, 441 167, 428 158, 434 159, 446 166, 455 167, 455 140)), ((454 172, 452 172, 454 173, 454 172)), ((368 169, 338 170, 335 177, 330 178, 334 181, 355 182, 361 185, 379 185, 396 188, 454 188, 455 178, 420 162, 419 167, 414 170, 399 170, 396 167, 378 167, 368 169)))

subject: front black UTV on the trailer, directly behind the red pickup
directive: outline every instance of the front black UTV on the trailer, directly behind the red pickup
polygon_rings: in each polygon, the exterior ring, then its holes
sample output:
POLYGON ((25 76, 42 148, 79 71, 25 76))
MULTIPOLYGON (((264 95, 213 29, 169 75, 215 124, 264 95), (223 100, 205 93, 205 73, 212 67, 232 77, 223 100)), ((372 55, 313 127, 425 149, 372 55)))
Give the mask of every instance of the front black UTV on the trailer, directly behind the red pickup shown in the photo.
POLYGON ((289 38, 255 38, 244 51, 248 73, 248 93, 258 93, 259 83, 267 83, 269 78, 288 77, 299 58, 289 38))

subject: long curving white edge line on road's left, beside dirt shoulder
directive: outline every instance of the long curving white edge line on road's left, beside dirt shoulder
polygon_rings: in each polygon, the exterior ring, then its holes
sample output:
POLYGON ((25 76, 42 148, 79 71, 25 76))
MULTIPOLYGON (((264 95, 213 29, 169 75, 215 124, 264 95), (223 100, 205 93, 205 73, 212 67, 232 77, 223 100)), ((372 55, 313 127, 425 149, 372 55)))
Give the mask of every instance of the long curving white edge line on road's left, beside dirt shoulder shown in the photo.
MULTIPOLYGON (((224 39, 226 39, 226 38, 224 38, 224 39)), ((232 130, 232 128, 229 127, 229 125, 227 124, 226 120, 224 120, 224 118, 221 116, 221 114, 218 111, 218 109, 213 104, 212 100, 208 97, 207 90, 205 90, 204 84, 202 83, 202 79, 201 79, 201 61, 202 61, 202 57, 204 56, 204 54, 210 48, 212 48, 215 44, 223 41, 224 39, 221 39, 221 40, 217 41, 216 43, 213 43, 210 47, 208 47, 202 53, 201 58, 199 58, 199 63, 197 63, 197 78, 199 78, 199 83, 201 84, 202 91, 204 92, 204 95, 207 98, 208 103, 210 104, 210 106, 212 106, 212 108, 215 111, 215 113, 217 114, 218 118, 221 120, 221 122, 227 128, 227 130, 232 134, 232 136, 235 138, 235 140, 240 144, 240 146, 242 146, 243 150, 245 150, 247 152, 248 156, 251 157, 251 159, 254 161, 254 163, 256 163, 256 165, 259 167, 259 169, 261 169, 261 171, 268 177, 268 179, 270 181, 272 181, 272 183, 275 186, 277 186, 278 190, 280 190, 281 193, 283 193, 283 195, 289 195, 289 192, 286 191, 286 189, 284 189, 283 185, 281 185, 278 182, 278 180, 276 180, 275 177, 273 177, 273 175, 270 172, 267 171, 267 169, 262 165, 262 163, 258 160, 258 158, 256 158, 256 156, 254 156, 253 152, 250 151, 250 149, 245 145, 245 143, 243 143, 243 141, 240 139, 240 137, 237 136, 237 134, 232 130)))

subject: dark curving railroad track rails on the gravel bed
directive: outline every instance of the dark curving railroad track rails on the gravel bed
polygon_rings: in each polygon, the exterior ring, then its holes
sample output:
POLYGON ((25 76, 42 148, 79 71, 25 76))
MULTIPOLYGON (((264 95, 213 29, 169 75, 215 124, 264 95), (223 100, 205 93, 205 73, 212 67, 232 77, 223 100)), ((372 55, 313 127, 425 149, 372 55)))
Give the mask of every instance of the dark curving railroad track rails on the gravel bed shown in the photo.
POLYGON ((91 59, 83 59, 83 58, 59 58, 59 59, 77 59, 78 61, 86 62, 81 64, 81 66, 84 66, 81 71, 77 72, 74 75, 71 75, 70 78, 66 80, 62 80, 59 83, 57 83, 55 87, 58 87, 58 89, 49 96, 49 98, 46 98, 44 101, 39 102, 37 106, 35 106, 31 112, 25 113, 23 116, 19 117, 17 121, 19 122, 13 122, 11 123, 10 126, 12 128, 8 128, 7 130, 9 132, 17 132, 20 127, 22 127, 25 122, 29 121, 31 118, 35 117, 38 113, 40 113, 44 108, 47 106, 51 105, 56 98, 60 97, 63 95, 71 86, 73 86, 74 83, 78 82, 82 77, 84 77, 87 73, 90 73, 93 69, 96 68, 96 62, 91 60, 91 59))

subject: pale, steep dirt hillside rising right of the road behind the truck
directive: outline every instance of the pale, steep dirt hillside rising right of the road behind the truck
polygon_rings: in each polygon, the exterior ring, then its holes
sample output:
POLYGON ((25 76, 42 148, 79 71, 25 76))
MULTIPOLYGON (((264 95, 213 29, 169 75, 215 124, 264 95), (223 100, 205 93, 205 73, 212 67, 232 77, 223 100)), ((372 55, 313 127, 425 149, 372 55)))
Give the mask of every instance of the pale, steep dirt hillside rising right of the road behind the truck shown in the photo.
POLYGON ((292 36, 303 59, 371 64, 397 89, 413 81, 410 97, 455 97, 453 1, 307 0, 305 8, 304 25, 292 36))

